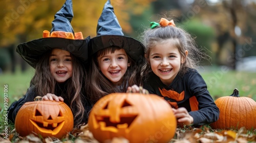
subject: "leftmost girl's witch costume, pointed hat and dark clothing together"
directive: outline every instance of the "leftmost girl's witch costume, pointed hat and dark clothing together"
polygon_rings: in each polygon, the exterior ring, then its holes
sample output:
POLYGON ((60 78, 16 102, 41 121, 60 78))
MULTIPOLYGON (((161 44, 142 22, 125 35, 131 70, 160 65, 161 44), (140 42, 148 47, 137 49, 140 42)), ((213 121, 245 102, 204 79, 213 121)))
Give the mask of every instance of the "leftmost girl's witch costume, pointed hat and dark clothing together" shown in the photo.
MULTIPOLYGON (((49 53, 53 49, 61 49, 70 52, 73 56, 81 61, 81 64, 84 64, 85 66, 88 60, 88 43, 90 41, 90 36, 83 39, 81 32, 74 32, 71 26, 73 16, 72 0, 66 0, 65 4, 54 16, 51 32, 45 30, 43 32, 43 38, 19 44, 16 48, 16 52, 34 68, 42 55, 49 53)), ((68 99, 66 89, 68 86, 66 84, 71 82, 69 80, 61 84, 56 83, 54 93, 52 94, 62 97, 64 102, 71 107, 72 99, 68 99)), ((86 92, 84 92, 83 89, 84 86, 85 85, 83 84, 81 89, 83 96, 81 95, 82 97, 80 98, 86 111, 86 115, 83 116, 83 122, 87 122, 89 116, 88 113, 91 110, 92 105, 89 104, 88 99, 86 99, 86 92)), ((25 96, 11 104, 8 109, 9 121, 13 123, 15 122, 16 114, 24 103, 33 101, 36 96, 44 96, 38 95, 36 91, 36 87, 33 83, 31 83, 25 96)), ((80 110, 77 109, 76 105, 72 105, 71 108, 73 114, 80 110)), ((77 120, 74 118, 74 125, 76 125, 76 122, 77 120)))

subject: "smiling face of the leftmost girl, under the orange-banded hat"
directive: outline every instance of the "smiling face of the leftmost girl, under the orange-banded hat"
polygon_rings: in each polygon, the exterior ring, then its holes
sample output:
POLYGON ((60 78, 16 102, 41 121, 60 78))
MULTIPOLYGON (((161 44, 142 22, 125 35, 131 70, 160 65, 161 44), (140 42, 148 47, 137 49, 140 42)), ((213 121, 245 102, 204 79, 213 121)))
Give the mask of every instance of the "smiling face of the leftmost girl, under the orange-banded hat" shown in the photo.
POLYGON ((50 55, 50 71, 53 78, 58 82, 65 82, 72 76, 72 59, 70 52, 54 49, 50 55))

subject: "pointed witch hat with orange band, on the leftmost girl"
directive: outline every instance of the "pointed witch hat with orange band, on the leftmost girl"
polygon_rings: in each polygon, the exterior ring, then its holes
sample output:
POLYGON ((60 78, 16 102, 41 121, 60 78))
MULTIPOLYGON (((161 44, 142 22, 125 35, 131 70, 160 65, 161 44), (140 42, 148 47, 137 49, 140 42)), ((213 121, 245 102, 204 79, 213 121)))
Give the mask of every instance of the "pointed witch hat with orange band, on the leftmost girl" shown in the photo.
POLYGON ((70 23, 73 18, 72 0, 67 0, 54 18, 51 32, 45 30, 42 34, 43 38, 19 44, 16 52, 34 68, 44 53, 55 48, 69 51, 86 62, 90 36, 83 39, 81 32, 74 33, 70 23))

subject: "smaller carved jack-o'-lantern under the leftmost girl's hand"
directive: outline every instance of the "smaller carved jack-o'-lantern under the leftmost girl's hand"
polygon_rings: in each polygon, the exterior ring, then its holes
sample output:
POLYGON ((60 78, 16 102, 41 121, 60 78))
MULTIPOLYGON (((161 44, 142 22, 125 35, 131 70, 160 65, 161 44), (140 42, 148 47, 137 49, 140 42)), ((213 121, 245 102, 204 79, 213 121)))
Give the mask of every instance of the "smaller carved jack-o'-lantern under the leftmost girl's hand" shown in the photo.
POLYGON ((15 118, 15 129, 20 136, 36 133, 42 137, 61 138, 73 130, 74 119, 69 106, 56 101, 25 103, 15 118))

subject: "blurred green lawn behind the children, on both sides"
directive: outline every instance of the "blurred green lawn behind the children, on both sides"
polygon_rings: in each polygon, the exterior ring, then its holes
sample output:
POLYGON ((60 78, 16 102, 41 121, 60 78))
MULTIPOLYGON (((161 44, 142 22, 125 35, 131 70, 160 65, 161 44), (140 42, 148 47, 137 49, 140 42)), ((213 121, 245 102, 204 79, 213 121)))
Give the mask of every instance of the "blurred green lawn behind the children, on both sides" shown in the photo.
MULTIPOLYGON (((256 101, 256 73, 232 71, 224 69, 204 69, 200 70, 208 90, 215 100, 219 97, 229 96, 234 88, 238 88, 240 96, 246 96, 256 101)), ((8 105, 23 97, 26 93, 34 69, 30 68, 25 73, 18 70, 15 74, 0 74, 0 107, 4 107, 4 85, 8 85, 8 105)))

